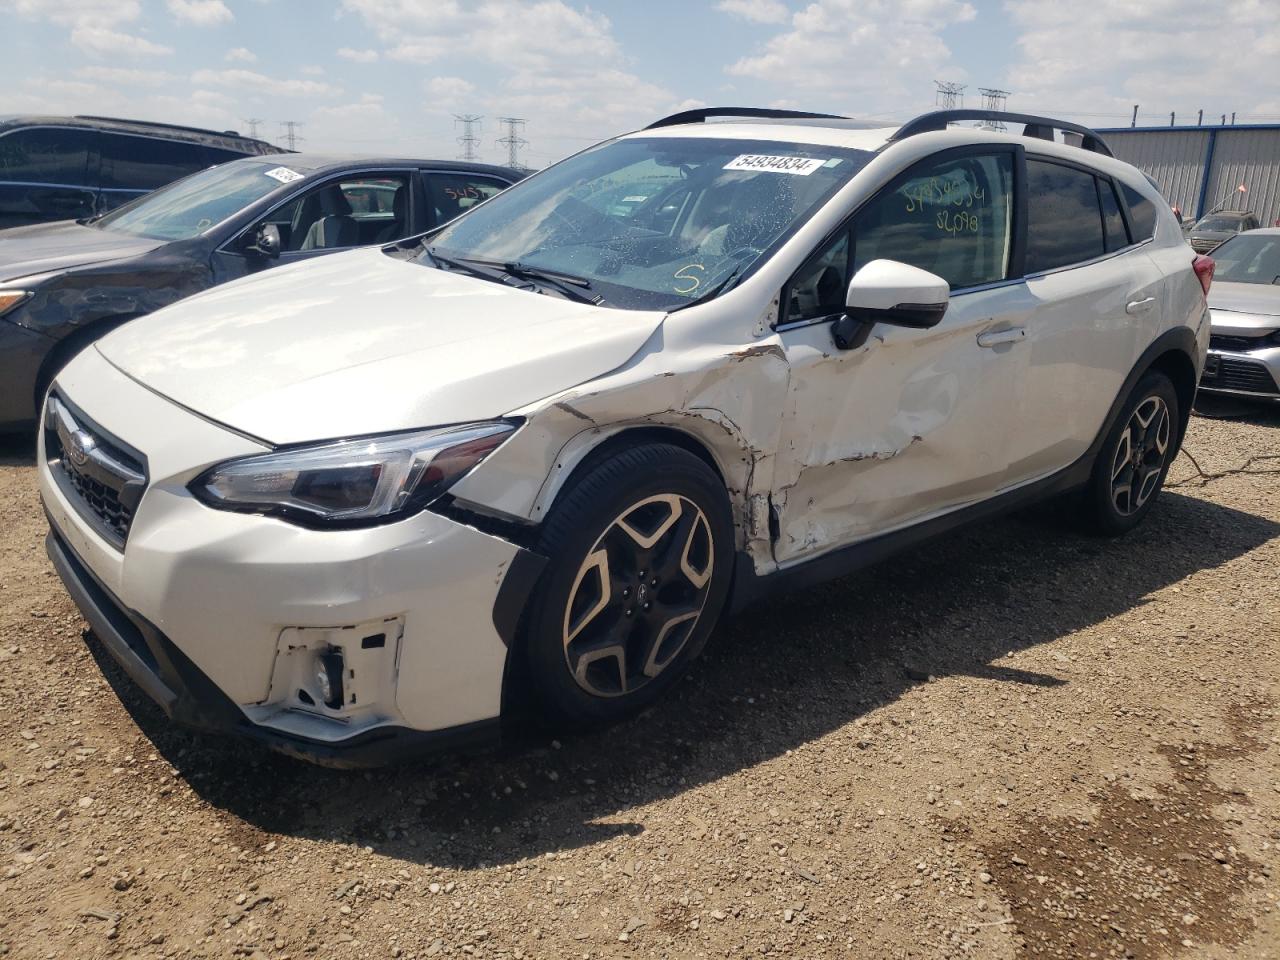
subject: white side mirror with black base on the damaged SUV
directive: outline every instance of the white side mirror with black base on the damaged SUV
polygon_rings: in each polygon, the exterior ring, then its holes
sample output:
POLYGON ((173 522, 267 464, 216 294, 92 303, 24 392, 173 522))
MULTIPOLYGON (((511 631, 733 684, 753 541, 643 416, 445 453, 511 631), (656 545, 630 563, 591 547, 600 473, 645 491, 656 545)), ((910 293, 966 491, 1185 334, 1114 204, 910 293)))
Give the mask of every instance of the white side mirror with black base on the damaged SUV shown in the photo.
POLYGON ((832 326, 832 338, 840 349, 856 349, 876 324, 936 326, 950 298, 941 276, 896 260, 873 260, 849 282, 845 315, 832 326))

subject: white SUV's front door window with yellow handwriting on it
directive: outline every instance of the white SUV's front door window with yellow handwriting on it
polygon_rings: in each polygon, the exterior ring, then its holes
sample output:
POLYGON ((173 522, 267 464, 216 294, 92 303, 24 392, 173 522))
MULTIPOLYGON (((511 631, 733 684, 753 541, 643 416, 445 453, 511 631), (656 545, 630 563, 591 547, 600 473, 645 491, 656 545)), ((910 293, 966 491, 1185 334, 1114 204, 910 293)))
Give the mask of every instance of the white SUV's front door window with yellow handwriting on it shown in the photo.
POLYGON ((931 159, 864 206, 854 224, 854 271, 897 260, 952 289, 1009 275, 1014 155, 931 159))

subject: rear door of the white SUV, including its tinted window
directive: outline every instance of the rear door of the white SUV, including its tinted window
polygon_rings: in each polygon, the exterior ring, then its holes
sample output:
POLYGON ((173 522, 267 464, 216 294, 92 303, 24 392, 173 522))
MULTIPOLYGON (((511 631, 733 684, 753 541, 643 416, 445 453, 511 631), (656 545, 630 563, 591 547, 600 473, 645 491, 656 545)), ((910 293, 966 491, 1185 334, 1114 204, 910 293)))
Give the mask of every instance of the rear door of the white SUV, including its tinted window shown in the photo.
POLYGON ((1110 177, 1027 157, 1027 321, 1009 480, 1052 474, 1093 442, 1158 329, 1161 271, 1132 242, 1110 177))

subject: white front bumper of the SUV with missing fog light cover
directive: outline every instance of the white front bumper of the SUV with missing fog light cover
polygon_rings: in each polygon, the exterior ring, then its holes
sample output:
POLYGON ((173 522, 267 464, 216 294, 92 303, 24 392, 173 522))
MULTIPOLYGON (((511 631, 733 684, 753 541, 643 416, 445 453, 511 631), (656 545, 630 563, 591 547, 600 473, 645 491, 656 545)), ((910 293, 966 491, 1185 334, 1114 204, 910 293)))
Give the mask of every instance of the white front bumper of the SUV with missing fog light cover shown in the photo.
POLYGON ((122 548, 58 481, 42 431, 50 556, 95 634, 174 721, 324 763, 492 735, 532 554, 431 512, 320 531, 212 509, 187 483, 260 443, 146 390, 95 349, 58 389, 143 454, 148 480, 122 548), (358 690, 340 705, 306 682, 307 664, 334 650, 358 690))

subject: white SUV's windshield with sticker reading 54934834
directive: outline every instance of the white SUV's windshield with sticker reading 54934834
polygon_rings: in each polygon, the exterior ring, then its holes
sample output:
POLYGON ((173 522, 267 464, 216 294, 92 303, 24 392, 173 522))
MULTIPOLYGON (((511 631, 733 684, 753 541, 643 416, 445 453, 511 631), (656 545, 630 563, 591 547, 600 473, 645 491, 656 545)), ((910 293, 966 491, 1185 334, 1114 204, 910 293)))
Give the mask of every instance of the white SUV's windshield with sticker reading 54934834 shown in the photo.
POLYGON ((780 141, 612 141, 477 206, 420 262, 550 273, 607 306, 671 310, 745 275, 872 156, 780 141))

